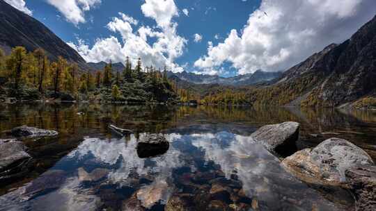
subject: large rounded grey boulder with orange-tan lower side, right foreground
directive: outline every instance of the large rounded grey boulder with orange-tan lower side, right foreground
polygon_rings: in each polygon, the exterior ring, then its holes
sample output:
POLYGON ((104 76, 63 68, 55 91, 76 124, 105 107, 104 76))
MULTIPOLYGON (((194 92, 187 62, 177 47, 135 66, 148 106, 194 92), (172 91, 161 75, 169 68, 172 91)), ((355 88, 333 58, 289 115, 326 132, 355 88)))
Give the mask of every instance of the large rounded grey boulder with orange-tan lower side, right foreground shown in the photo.
POLYGON ((344 185, 345 171, 361 164, 373 165, 373 160, 363 149, 338 138, 298 151, 282 162, 300 180, 320 185, 344 185))

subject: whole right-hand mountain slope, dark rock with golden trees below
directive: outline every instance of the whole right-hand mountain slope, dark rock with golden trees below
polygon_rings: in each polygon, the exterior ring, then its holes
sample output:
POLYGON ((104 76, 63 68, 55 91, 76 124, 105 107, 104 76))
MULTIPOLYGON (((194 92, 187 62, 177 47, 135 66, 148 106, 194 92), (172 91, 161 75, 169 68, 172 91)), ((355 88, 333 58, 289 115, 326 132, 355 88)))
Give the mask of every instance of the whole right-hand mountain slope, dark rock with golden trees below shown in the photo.
POLYGON ((249 93, 254 103, 336 107, 376 90, 376 17, 342 44, 330 44, 249 93))

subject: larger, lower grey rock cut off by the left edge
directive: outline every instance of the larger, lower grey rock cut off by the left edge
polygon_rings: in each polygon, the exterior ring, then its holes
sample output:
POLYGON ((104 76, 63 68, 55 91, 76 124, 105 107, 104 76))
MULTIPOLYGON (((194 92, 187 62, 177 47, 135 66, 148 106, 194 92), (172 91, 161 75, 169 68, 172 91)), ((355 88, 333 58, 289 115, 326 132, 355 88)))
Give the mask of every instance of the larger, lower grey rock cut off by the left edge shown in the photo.
POLYGON ((31 156, 16 140, 0 140, 0 181, 26 174, 31 156))

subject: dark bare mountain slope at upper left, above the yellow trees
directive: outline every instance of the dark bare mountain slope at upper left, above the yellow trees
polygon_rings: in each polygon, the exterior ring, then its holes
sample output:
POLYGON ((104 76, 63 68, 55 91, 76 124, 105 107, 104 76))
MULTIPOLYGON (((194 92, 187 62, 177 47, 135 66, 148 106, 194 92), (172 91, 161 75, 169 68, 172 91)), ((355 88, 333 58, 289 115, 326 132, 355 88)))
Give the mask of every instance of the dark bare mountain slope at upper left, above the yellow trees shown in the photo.
POLYGON ((62 56, 87 69, 86 61, 38 20, 0 0, 0 47, 10 53, 11 48, 22 46, 28 51, 42 48, 51 60, 62 56))

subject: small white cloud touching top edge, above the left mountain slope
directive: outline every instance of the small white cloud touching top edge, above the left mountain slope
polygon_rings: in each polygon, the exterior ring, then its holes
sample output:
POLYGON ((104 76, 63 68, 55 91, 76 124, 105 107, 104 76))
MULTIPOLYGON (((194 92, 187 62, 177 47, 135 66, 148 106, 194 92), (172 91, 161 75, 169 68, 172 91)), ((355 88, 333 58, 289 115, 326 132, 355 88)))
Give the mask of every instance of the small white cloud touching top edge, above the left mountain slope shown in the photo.
POLYGON ((86 22, 85 11, 102 3, 101 0, 47 0, 47 2, 58 9, 68 22, 76 26, 86 22))

